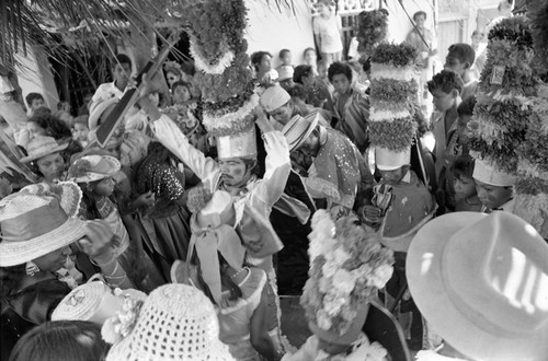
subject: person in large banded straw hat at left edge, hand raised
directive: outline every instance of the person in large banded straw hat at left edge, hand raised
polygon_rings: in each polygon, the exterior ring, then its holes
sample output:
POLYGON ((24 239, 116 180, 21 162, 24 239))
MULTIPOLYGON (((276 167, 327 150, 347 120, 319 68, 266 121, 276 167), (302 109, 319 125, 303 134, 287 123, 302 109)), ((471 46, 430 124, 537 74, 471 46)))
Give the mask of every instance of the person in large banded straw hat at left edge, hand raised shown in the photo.
POLYGON ((2 359, 30 328, 50 318, 70 288, 56 272, 75 244, 121 288, 132 287, 112 257, 114 234, 102 221, 76 218, 81 191, 73 183, 38 184, 0 200, 2 359), (5 327, 5 328, 4 328, 5 327))

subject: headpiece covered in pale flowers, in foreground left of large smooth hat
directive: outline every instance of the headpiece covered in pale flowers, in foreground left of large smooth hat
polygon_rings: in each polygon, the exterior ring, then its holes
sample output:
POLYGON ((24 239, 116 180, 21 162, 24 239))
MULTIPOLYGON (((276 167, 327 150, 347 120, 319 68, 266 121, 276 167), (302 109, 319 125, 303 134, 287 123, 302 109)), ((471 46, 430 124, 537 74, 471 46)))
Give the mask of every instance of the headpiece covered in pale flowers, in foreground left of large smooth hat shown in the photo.
POLYGON ((392 251, 380 245, 378 233, 355 222, 343 217, 335 223, 318 210, 308 236, 311 267, 300 303, 310 322, 339 335, 392 276, 392 251))

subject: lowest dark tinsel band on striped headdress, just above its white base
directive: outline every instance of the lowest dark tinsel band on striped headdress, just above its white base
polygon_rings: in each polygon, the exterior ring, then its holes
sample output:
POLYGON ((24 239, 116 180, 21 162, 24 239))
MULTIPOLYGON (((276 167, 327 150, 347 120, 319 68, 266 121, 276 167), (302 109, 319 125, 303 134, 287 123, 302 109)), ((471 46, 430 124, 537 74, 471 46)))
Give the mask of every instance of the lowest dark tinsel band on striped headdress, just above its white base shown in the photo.
POLYGON ((395 119, 393 121, 372 121, 369 124, 369 139, 373 147, 387 148, 395 152, 402 152, 413 144, 416 133, 416 121, 411 117, 395 119))

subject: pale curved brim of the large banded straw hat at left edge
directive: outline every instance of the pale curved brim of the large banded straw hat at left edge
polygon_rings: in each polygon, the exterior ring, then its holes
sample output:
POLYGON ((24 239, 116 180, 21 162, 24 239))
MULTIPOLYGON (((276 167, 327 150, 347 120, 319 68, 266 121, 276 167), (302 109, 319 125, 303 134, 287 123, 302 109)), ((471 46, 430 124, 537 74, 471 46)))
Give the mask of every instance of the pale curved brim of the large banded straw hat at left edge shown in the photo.
POLYGON ((85 235, 85 221, 69 218, 59 228, 28 241, 0 242, 0 267, 22 265, 68 246, 85 235))

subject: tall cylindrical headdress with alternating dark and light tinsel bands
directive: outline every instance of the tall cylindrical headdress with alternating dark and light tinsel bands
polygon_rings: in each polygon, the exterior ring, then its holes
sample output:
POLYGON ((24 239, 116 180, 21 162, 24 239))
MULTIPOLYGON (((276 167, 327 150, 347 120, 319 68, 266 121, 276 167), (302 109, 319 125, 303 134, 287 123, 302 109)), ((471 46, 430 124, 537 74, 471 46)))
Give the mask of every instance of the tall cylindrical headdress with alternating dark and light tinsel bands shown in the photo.
POLYGON ((369 139, 379 170, 410 163, 416 132, 415 49, 409 44, 379 44, 372 57, 369 139))

